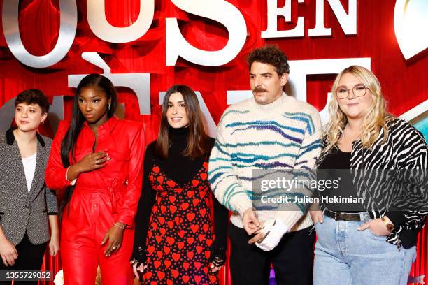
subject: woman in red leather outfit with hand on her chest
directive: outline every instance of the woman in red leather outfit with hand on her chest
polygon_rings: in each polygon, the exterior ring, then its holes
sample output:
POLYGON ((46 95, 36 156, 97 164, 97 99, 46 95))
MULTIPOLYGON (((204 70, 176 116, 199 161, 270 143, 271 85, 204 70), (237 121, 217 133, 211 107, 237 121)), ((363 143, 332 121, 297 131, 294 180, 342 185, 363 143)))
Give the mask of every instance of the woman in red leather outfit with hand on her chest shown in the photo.
POLYGON ((141 123, 115 117, 117 94, 102 75, 79 83, 71 122, 61 122, 45 171, 50 189, 66 189, 62 268, 66 285, 132 284, 129 258, 141 193, 141 123))

